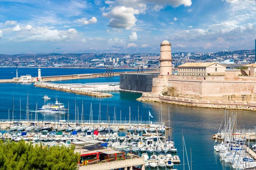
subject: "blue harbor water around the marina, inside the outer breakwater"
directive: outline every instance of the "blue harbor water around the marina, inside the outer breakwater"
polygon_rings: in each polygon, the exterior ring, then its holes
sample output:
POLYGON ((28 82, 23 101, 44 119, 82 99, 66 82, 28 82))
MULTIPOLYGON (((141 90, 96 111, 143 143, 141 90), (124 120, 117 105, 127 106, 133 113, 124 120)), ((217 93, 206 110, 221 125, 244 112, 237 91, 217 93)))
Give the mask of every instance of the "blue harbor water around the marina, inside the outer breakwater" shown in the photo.
MULTIPOLYGON (((74 82, 117 82, 119 77, 112 78, 97 78, 97 79, 83 79, 83 80, 70 80, 62 81, 74 82)), ((114 106, 116 106, 117 120, 120 120, 120 110, 122 110, 122 120, 128 120, 129 106, 131 106, 131 116, 134 121, 138 114, 137 108, 140 107, 140 114, 145 118, 145 104, 146 104, 146 119, 148 120, 148 110, 151 112, 152 121, 157 121, 160 103, 157 102, 139 102, 136 99, 140 94, 127 94, 127 93, 111 93, 111 98, 94 98, 90 96, 82 96, 71 93, 64 93, 61 91, 52 91, 44 88, 36 88, 31 83, 28 84, 15 84, 4 83, 0 84, 0 119, 8 119, 8 109, 12 110, 12 97, 15 99, 15 119, 19 119, 19 100, 22 103, 22 119, 25 119, 26 112, 26 98, 29 92, 29 109, 35 110, 36 102, 38 107, 44 104, 42 97, 47 94, 52 99, 58 96, 58 99, 67 107, 70 102, 70 119, 74 119, 75 97, 79 113, 81 113, 81 102, 84 102, 84 119, 89 119, 90 103, 93 105, 93 119, 98 120, 99 102, 101 102, 102 119, 106 119, 107 105, 109 105, 109 114, 113 119, 114 106)), ((51 100, 54 102, 54 100, 51 100)), ((232 111, 230 111, 232 112, 232 111)), ((168 123, 168 105, 162 104, 163 121, 168 123)), ((34 112, 32 112, 34 119, 34 112)), ((218 132, 224 110, 221 109, 204 109, 192 108, 170 105, 170 122, 171 122, 171 137, 175 140, 175 146, 178 149, 178 154, 182 160, 182 132, 186 141, 186 147, 190 156, 190 148, 192 150, 192 164, 193 170, 231 170, 230 164, 224 164, 220 161, 219 156, 213 150, 212 135, 218 132)), ((238 128, 240 129, 254 129, 255 112, 237 111, 238 128)), ((39 119, 42 119, 42 114, 39 113, 39 119)), ((52 115, 46 115, 46 119, 54 119, 52 115)), ((190 159, 190 158, 189 158, 190 159)), ((178 165, 175 168, 181 170, 183 165, 178 165)), ((188 170, 187 167, 185 167, 188 170)))

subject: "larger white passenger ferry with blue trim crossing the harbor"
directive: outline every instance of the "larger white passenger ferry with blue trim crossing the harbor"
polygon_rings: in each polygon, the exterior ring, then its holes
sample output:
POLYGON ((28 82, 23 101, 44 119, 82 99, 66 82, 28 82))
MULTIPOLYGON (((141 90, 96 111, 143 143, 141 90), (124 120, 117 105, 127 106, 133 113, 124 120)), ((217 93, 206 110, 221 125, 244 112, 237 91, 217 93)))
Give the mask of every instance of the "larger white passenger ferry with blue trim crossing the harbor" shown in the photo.
POLYGON ((42 108, 39 108, 40 113, 65 113, 66 109, 64 107, 64 104, 59 103, 56 99, 55 104, 53 103, 47 103, 46 105, 43 105, 42 108))

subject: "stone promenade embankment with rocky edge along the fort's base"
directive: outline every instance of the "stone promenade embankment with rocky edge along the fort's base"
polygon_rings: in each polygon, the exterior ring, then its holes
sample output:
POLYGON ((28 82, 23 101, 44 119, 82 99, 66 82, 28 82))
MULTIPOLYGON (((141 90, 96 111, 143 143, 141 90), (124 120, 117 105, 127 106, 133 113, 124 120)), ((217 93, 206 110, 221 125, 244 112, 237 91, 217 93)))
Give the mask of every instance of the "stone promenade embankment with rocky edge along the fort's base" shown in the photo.
POLYGON ((146 102, 163 102, 172 105, 199 107, 199 108, 217 108, 217 109, 237 109, 245 111, 256 111, 256 102, 245 101, 223 101, 223 100, 197 100, 179 97, 163 96, 158 94, 144 93, 137 99, 146 102))

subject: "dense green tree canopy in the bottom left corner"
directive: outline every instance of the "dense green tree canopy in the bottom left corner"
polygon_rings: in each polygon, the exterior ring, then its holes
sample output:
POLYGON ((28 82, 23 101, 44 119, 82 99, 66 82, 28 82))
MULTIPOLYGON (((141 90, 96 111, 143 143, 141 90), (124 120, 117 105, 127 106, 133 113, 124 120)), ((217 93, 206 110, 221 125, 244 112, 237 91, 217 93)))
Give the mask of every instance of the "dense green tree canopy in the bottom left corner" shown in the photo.
POLYGON ((0 142, 0 170, 76 170, 80 155, 75 146, 0 142))

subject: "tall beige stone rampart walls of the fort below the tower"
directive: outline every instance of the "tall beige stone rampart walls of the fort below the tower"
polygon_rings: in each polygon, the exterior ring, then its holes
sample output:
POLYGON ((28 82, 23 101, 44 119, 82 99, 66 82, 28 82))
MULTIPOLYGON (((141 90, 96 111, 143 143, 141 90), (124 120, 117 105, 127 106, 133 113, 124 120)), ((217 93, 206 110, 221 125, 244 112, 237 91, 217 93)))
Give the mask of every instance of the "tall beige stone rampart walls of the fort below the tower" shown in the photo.
POLYGON ((152 82, 152 94, 189 99, 256 101, 256 77, 236 76, 238 71, 227 71, 225 76, 158 76, 152 82))

